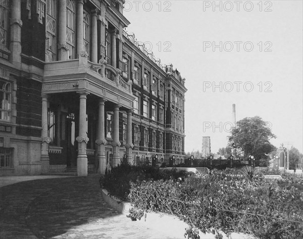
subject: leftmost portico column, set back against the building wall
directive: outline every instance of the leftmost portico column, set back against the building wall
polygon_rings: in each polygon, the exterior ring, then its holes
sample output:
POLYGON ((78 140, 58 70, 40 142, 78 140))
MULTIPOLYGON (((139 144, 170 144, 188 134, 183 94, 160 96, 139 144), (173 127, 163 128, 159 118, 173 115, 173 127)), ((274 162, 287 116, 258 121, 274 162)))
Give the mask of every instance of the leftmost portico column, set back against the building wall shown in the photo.
POLYGON ((41 164, 42 169, 49 168, 49 156, 48 156, 48 144, 51 142, 51 138, 47 136, 48 126, 47 126, 47 95, 42 95, 42 112, 41 112, 41 123, 42 123, 42 131, 41 131, 41 164), (44 166, 46 165, 46 167, 44 166))

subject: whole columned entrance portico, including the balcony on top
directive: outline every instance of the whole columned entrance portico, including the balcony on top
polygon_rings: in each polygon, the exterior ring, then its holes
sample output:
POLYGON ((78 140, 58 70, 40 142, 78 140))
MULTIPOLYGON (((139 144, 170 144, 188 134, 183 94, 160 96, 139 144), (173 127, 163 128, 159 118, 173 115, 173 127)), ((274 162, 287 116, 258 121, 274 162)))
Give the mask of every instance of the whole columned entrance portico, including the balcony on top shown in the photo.
POLYGON ((45 130, 41 133, 41 161, 49 162, 49 147, 57 147, 60 164, 66 162, 70 167, 76 166, 78 176, 87 176, 89 153, 97 158, 101 174, 106 168, 120 163, 122 148, 131 162, 134 99, 131 84, 123 81, 119 69, 107 65, 104 60, 99 62, 88 61, 87 54, 82 52, 79 59, 45 65, 42 84, 42 125, 45 130), (111 72, 113 80, 105 77, 106 71, 111 72), (113 112, 108 122, 105 121, 106 112, 113 112), (120 137, 119 114, 122 112, 127 112, 125 145, 121 144, 123 139, 120 137), (49 122, 52 120, 54 122, 49 122), (106 135, 105 129, 112 132, 106 135), (107 158, 108 150, 112 161, 107 158))

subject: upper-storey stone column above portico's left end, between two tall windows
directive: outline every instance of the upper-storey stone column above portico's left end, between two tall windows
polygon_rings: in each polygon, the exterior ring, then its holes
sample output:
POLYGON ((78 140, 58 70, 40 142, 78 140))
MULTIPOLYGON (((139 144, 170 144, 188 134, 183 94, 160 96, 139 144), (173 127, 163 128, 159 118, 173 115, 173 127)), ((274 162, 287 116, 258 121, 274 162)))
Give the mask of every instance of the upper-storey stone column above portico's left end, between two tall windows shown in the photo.
POLYGON ((58 60, 67 60, 66 1, 67 0, 59 0, 58 60))

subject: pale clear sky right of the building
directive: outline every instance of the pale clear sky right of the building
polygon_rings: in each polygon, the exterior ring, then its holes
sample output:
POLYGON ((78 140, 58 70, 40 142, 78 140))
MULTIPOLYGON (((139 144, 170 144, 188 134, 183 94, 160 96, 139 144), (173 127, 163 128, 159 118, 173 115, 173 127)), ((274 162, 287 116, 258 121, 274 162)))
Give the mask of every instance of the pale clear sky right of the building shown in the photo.
POLYGON ((227 145, 232 104, 303 152, 302 2, 126 1, 127 32, 186 78, 185 152, 227 145))

